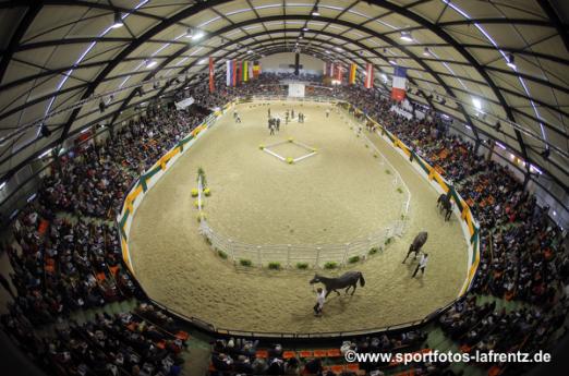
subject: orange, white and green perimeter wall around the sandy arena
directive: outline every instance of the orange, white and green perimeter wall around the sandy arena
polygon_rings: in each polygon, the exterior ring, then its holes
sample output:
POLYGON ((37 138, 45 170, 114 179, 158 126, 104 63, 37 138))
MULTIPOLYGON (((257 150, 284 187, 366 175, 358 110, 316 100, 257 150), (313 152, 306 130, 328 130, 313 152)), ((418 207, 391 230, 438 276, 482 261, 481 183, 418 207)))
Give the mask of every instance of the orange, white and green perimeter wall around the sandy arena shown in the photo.
MULTIPOLYGON (((247 98, 251 100, 252 98, 247 98)), ((282 97, 256 97, 256 99, 261 100, 286 100, 287 98, 282 97)), ((298 100, 298 99, 296 99, 298 100)), ((313 99, 305 99, 306 101, 329 101, 329 102, 338 102, 336 98, 332 99, 324 99, 324 98, 313 98, 313 99)), ((247 101, 247 100, 245 100, 247 101)), ((142 201, 144 199, 145 193, 150 190, 156 182, 160 180, 160 178, 166 173, 166 171, 169 169, 170 166, 172 166, 175 160, 186 150, 189 147, 195 143, 196 140, 199 138, 199 136, 207 131, 209 128, 214 126, 217 119, 221 117, 223 113, 226 113, 231 107, 235 105, 237 101, 231 101, 223 106, 222 109, 214 112, 209 117, 207 117, 202 124, 196 126, 189 135, 186 135, 184 138, 182 138, 172 149, 170 149, 167 154, 165 154, 154 166, 148 169, 145 173, 143 173, 136 181, 134 181, 131 185, 131 189, 129 190, 129 193, 124 196, 121 211, 119 216, 117 216, 117 227, 119 228, 119 235, 121 239, 121 248, 122 248, 122 257, 123 262, 131 271, 131 274, 136 277, 136 274, 134 271, 134 267, 132 264, 132 259, 130 256, 129 251, 129 234, 131 230, 132 220, 134 218, 134 214, 136 213, 136 209, 141 205, 142 201)), ((343 106, 347 109, 353 108, 354 112, 356 114, 363 114, 361 110, 353 107, 352 105, 348 102, 343 102, 343 106)), ((455 191, 455 189, 448 183, 448 181, 440 175, 440 173, 436 170, 436 168, 429 166, 423 158, 421 158, 413 149, 409 148, 405 144, 403 144, 397 136, 395 136, 392 133, 387 131, 382 124, 376 122, 375 120, 371 119, 367 116, 364 116, 364 119, 367 121, 371 121, 374 123, 378 131, 377 133, 388 143, 390 143, 394 148, 405 159, 408 159, 413 168, 425 179, 428 180, 429 184, 439 193, 447 193, 449 190, 451 191, 451 195, 455 199, 455 215, 460 219, 461 227, 464 233, 464 236, 468 240, 469 243, 469 262, 468 262, 468 276, 464 281, 464 284, 459 293, 459 296, 462 296, 465 294, 471 284, 474 280, 474 277, 476 275, 479 262, 480 262, 480 226, 477 221, 472 217, 471 210, 469 205, 462 199, 462 197, 455 191), (411 160, 411 156, 413 157, 411 160)), ((137 281, 136 281, 136 284, 137 281)), ((142 287, 141 287, 142 289, 142 287)), ((144 291, 144 289, 142 289, 144 291)), ((387 328, 374 328, 374 329, 362 329, 358 331, 350 331, 350 332, 322 332, 322 333, 259 333, 259 332, 249 332, 249 331, 239 331, 239 330, 232 330, 232 329, 221 329, 221 328, 215 328, 213 325, 203 322, 199 318, 189 318, 184 315, 181 315, 179 313, 172 312, 168 307, 161 305, 159 302, 156 302, 148 298, 149 301, 152 301, 154 304, 160 306, 165 311, 168 311, 177 316, 179 316, 181 319, 184 319, 186 322, 190 322, 194 324, 197 327, 201 327, 202 329, 205 329, 206 331, 210 333, 216 333, 220 336, 243 336, 243 337, 267 337, 267 338, 305 338, 305 339, 314 339, 314 338, 331 338, 331 337, 340 337, 344 338, 348 336, 359 336, 359 335, 368 335, 372 332, 380 332, 380 331, 396 331, 396 330, 403 330, 411 327, 420 327, 435 317, 438 317, 438 315, 445 311, 447 311, 453 302, 447 304, 445 307, 441 307, 434 312, 433 314, 426 316, 422 320, 415 320, 410 323, 402 323, 396 326, 387 327, 387 328)))

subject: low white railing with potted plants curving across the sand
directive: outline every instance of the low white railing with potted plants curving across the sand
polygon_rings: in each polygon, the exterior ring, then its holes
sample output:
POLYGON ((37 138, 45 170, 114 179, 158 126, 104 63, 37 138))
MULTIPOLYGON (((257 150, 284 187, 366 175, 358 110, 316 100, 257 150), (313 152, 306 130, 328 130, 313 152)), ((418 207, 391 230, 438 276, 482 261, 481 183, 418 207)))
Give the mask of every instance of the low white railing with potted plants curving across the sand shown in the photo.
MULTIPOLYGON (((255 100, 279 100, 286 97, 278 96, 256 96, 255 100)), ((330 98, 305 98, 306 101, 329 101, 330 98), (316 100, 318 101, 318 100, 316 100)), ((405 223, 411 203, 411 192, 401 179, 399 172, 385 158, 379 149, 365 135, 360 132, 361 123, 352 119, 344 111, 339 111, 342 121, 359 134, 362 142, 367 145, 370 151, 375 156, 379 166, 387 166, 392 175, 394 189, 401 190, 404 194, 401 204, 400 215, 390 226, 377 230, 367 236, 360 236, 348 243, 339 244, 250 244, 231 239, 226 234, 214 230, 205 217, 201 220, 199 232, 210 244, 214 252, 233 262, 235 266, 246 264, 247 266, 267 267, 270 263, 278 263, 283 268, 323 268, 334 263, 337 267, 342 267, 351 263, 364 260, 368 255, 385 250, 395 236, 400 238, 405 230, 405 223)))

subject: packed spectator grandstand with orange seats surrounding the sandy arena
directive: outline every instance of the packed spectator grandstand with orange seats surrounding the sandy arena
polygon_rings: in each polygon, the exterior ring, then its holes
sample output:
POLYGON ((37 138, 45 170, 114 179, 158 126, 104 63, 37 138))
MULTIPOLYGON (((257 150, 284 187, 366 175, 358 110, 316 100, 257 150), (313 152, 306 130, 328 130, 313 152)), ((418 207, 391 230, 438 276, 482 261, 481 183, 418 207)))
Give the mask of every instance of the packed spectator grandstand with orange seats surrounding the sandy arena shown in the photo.
MULTIPOLYGON (((197 85, 191 89, 195 104, 189 110, 153 102, 144 117, 113 130, 112 136, 76 145, 53 162, 37 195, 13 216, 11 235, 2 243, 13 270, 7 278, 15 289, 4 283, 13 300, 1 323, 31 360, 53 375, 183 373, 183 353, 194 329, 146 296, 123 263, 113 220, 137 177, 211 110, 251 96, 286 96, 283 78, 291 77, 262 73, 238 87, 225 87, 218 80, 215 93, 206 83, 197 85), (130 310, 106 310, 117 302, 131 302, 130 310)), ((552 349, 565 335, 569 257, 561 229, 523 182, 507 167, 481 158, 476 145, 450 133, 435 112, 409 120, 378 93, 330 85, 322 76, 302 78, 313 85, 306 96, 352 104, 444 171, 480 221, 479 270, 467 295, 421 327, 331 339, 325 345, 209 333, 209 373, 460 374, 443 362, 348 364, 342 357, 348 350, 434 350, 435 331, 467 353, 552 349)), ((469 366, 489 375, 529 368, 499 362, 469 366)))

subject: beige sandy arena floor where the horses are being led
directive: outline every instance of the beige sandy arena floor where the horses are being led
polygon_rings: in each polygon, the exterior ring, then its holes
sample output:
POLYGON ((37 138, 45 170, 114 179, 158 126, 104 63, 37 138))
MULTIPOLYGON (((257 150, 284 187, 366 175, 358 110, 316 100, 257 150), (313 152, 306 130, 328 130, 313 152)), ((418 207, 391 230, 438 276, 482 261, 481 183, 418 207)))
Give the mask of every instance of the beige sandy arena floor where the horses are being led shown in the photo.
MULTIPOLYGON (((453 300, 467 272, 467 244, 456 218, 444 222, 436 192, 377 135, 370 135, 411 190, 408 230, 385 252, 348 269, 364 274, 355 295, 330 295, 324 317, 312 314, 313 271, 237 270, 214 254, 198 234, 190 191, 203 167, 213 191, 205 211, 218 232, 255 244, 343 243, 388 226, 399 217, 403 195, 392 175, 325 105, 274 102, 305 113, 304 124, 281 124, 269 136, 267 106, 240 105, 243 122, 230 113, 189 149, 147 194, 133 221, 130 250, 137 279, 155 300, 218 328, 255 331, 338 331, 420 319, 453 300), (289 166, 258 149, 294 137, 318 154, 289 166), (409 243, 429 232, 424 277, 416 263, 401 260, 409 243)), ((276 151, 294 154, 291 145, 276 151)), ((304 151, 300 150, 300 154, 304 151)), ((287 155, 288 156, 288 155, 287 155)), ((296 155, 291 155, 296 157, 296 155)))

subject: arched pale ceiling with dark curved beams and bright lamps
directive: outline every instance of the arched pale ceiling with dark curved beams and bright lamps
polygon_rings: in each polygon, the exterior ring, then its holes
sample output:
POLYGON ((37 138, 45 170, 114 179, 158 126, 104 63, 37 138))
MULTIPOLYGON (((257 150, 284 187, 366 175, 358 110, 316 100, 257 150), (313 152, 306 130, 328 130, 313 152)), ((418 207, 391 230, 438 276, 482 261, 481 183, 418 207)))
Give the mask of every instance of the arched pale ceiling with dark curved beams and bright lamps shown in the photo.
POLYGON ((82 130, 197 82, 210 56, 222 74, 226 59, 300 48, 371 62, 376 86, 407 66, 411 100, 567 192, 569 35, 556 2, 0 1, 0 182, 82 130))

